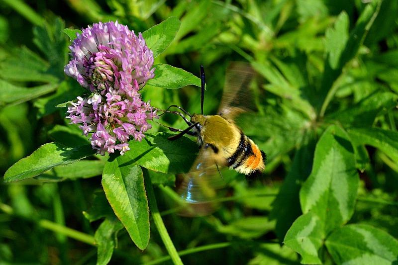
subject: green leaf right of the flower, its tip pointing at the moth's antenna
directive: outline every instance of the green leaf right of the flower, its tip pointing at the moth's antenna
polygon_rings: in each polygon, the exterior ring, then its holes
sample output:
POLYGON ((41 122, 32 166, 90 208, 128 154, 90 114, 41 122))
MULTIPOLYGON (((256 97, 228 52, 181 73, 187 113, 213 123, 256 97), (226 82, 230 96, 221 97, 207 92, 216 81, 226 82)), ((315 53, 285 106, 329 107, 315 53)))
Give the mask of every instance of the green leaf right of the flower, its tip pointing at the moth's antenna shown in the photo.
POLYGON ((147 84, 159 88, 182 88, 189 85, 200 87, 200 79, 181 68, 166 64, 154 65, 155 77, 148 80, 147 84))

